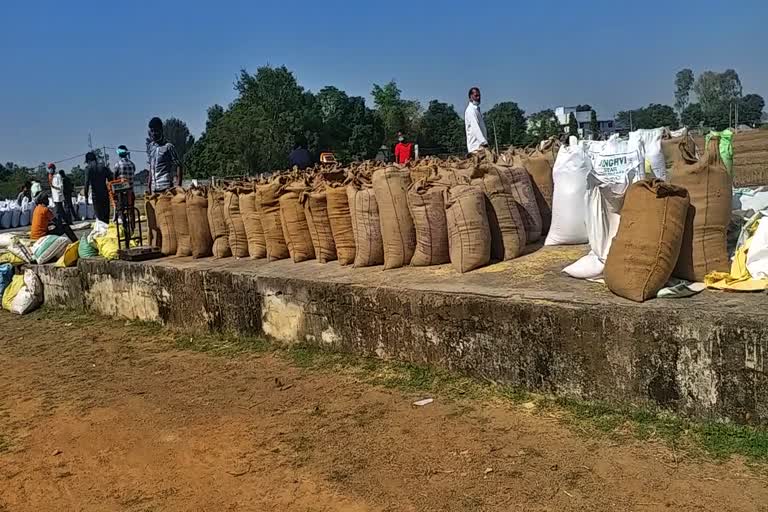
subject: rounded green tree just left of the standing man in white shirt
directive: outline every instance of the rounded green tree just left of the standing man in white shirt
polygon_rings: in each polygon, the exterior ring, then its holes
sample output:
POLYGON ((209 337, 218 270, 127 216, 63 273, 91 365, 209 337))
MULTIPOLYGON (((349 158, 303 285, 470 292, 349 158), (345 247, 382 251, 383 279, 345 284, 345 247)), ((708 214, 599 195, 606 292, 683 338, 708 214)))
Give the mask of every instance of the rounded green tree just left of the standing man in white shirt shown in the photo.
POLYGON ((464 123, 453 105, 437 100, 429 102, 421 118, 418 141, 426 151, 466 152, 464 123))

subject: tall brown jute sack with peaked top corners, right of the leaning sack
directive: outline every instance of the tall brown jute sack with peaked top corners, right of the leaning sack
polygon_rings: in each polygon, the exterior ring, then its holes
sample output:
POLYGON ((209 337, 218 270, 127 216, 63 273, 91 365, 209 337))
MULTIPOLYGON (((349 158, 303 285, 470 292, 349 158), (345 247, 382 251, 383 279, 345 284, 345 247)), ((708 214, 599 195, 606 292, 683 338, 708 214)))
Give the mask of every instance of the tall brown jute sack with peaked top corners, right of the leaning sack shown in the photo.
POLYGON ((701 160, 680 143, 683 161, 672 169, 672 184, 688 190, 688 210, 680 258, 673 275, 703 281, 710 272, 728 272, 726 234, 731 221, 733 184, 720 157, 720 141, 713 137, 701 160))

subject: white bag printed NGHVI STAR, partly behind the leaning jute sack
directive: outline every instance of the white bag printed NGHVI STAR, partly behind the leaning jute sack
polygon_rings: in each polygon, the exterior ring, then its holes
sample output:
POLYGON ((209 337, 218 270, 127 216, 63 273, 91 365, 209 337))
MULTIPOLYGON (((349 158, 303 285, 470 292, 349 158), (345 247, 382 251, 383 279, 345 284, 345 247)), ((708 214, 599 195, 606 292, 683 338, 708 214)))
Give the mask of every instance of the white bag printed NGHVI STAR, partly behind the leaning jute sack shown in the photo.
POLYGON ((611 241, 619 230, 624 195, 632 183, 645 176, 643 145, 611 137, 588 151, 587 236, 590 252, 563 272, 578 279, 596 279, 603 274, 611 241))

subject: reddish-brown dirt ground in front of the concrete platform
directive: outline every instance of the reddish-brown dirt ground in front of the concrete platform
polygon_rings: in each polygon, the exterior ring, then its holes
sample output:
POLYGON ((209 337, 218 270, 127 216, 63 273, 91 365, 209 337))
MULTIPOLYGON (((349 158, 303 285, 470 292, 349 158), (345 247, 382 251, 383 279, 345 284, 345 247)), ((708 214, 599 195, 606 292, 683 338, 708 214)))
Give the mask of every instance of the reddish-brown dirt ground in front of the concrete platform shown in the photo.
POLYGON ((740 460, 74 322, 0 313, 0 511, 768 510, 740 460))

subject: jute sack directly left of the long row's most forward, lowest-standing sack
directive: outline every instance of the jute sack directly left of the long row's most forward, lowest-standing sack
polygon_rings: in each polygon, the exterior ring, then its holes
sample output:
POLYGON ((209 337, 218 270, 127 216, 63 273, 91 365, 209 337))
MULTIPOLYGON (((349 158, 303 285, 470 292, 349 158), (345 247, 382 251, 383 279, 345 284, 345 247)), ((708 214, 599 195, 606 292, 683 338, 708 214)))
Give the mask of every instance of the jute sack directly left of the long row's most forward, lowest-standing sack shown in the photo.
POLYGON ((445 217, 447 185, 434 177, 422 178, 408 189, 408 208, 416 229, 416 248, 411 265, 423 267, 451 261, 448 252, 448 221, 445 217))

